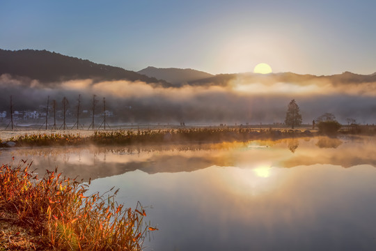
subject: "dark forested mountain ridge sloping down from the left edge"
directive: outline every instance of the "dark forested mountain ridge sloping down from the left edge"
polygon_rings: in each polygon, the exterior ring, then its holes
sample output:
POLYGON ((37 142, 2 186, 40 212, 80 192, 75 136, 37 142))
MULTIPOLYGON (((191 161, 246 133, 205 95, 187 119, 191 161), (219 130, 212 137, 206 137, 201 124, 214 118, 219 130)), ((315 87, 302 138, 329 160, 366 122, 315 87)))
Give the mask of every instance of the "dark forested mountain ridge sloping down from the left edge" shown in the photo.
POLYGON ((164 86, 171 85, 166 81, 158 81, 131 70, 93 63, 46 50, 0 50, 0 75, 4 73, 38 79, 40 82, 93 78, 140 80, 147 83, 159 82, 164 86))

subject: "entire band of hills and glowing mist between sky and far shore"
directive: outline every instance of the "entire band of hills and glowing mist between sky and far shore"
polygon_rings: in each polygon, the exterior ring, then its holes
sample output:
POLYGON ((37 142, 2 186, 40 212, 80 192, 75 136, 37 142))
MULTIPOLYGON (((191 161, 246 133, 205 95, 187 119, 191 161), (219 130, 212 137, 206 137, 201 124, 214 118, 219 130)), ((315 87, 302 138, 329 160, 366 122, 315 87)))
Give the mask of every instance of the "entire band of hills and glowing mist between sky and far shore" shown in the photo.
POLYGON ((209 75, 191 69, 147 69, 164 73, 158 78, 165 80, 54 52, 0 50, 0 112, 9 111, 10 96, 20 111, 41 110, 47 97, 61 109, 61 100, 68 98, 72 119, 79 95, 85 110, 97 95, 97 100, 106 98, 113 121, 260 124, 283 122, 288 102, 295 99, 305 123, 325 112, 342 123, 347 118, 375 123, 375 74, 209 75))

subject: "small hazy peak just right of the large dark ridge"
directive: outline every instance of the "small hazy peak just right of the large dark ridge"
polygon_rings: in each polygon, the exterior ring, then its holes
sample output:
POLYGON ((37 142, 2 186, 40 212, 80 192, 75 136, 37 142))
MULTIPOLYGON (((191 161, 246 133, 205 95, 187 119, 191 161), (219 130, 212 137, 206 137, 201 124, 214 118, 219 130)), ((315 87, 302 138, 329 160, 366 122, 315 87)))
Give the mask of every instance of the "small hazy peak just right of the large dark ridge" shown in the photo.
POLYGON ((155 77, 157 79, 164 79, 173 84, 184 84, 186 82, 195 81, 198 79, 206 79, 213 77, 210 73, 205 73, 200 70, 180 69, 180 68, 155 68, 149 66, 138 73, 148 77, 155 77))

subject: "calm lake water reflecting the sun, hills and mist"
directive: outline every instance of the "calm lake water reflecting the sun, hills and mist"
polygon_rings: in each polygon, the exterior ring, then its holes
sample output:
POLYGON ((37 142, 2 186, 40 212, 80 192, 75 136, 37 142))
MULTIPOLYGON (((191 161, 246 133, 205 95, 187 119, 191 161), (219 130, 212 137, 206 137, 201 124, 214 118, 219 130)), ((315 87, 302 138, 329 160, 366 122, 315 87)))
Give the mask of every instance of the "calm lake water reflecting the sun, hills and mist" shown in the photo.
POLYGON ((5 149, 146 206, 145 250, 376 250, 376 138, 5 149))

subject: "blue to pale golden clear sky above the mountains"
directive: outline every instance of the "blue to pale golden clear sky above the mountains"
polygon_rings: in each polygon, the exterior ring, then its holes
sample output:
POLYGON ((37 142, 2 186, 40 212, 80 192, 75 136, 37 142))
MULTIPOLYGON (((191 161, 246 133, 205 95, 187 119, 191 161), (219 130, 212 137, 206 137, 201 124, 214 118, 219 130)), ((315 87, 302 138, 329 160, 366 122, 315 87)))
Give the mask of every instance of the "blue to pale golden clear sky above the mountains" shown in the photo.
POLYGON ((0 48, 141 70, 376 72, 376 1, 6 1, 0 48))

